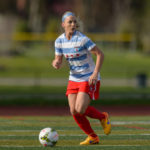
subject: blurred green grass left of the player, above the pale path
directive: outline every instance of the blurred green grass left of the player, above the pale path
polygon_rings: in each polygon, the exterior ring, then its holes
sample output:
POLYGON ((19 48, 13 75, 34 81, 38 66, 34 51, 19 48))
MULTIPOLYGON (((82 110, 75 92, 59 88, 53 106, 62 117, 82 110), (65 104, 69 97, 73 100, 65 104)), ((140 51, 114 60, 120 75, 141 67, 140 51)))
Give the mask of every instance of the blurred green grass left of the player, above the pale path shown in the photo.
POLYGON ((63 69, 55 70, 52 68, 54 49, 52 45, 40 44, 22 48, 19 56, 0 56, 0 77, 67 77, 68 67, 63 63, 63 69))

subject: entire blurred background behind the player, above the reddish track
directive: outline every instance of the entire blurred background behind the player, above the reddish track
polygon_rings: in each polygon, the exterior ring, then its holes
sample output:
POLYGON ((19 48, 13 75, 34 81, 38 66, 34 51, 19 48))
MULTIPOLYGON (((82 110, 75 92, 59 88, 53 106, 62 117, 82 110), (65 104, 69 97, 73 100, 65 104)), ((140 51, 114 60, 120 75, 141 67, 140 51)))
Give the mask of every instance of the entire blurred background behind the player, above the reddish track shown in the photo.
POLYGON ((97 105, 150 104, 149 0, 1 0, 0 105, 67 104, 67 62, 51 63, 68 10, 105 54, 97 105))

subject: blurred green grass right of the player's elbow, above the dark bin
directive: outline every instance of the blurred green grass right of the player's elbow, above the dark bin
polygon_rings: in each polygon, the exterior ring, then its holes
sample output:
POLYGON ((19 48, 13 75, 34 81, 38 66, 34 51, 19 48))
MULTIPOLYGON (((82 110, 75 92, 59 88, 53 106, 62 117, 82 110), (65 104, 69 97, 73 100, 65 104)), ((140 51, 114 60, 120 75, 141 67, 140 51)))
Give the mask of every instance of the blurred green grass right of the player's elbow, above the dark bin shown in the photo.
POLYGON ((134 78, 139 73, 150 77, 149 56, 138 52, 106 51, 102 67, 103 77, 108 78, 134 78))

